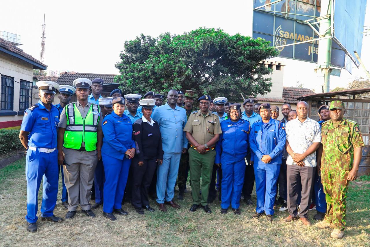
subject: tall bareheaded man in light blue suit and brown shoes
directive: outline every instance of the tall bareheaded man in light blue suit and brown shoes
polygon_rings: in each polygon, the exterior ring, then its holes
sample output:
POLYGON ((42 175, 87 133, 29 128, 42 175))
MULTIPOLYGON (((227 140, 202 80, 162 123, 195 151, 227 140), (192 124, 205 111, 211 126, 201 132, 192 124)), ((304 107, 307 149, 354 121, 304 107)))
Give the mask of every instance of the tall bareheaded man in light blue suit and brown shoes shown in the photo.
POLYGON ((153 120, 159 124, 164 151, 163 163, 157 168, 157 202, 160 211, 167 211, 164 204, 180 208, 173 199, 175 182, 179 170, 181 153, 188 147, 186 134, 182 131, 186 125, 186 111, 176 105, 178 93, 172 89, 168 92, 167 103, 157 107, 153 120))

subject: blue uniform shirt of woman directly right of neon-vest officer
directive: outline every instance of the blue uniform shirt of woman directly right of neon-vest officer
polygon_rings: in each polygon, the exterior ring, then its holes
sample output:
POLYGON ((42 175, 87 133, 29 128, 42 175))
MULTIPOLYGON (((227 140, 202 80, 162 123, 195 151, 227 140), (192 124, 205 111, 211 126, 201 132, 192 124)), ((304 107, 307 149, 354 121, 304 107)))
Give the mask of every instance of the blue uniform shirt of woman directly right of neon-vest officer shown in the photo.
POLYGON ((103 145, 101 152, 114 157, 123 159, 127 149, 136 148, 132 140, 132 122, 128 116, 118 116, 112 112, 105 116, 102 124, 103 145))

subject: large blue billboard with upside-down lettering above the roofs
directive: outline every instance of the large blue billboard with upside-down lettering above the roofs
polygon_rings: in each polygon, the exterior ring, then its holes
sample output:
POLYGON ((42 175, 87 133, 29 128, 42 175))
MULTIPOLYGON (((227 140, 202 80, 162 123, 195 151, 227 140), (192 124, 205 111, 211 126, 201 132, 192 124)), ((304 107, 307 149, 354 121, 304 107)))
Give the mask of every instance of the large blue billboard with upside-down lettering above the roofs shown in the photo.
MULTIPOLYGON (((253 7, 263 6, 273 0, 253 0, 253 7)), ((277 1, 277 0, 275 0, 277 1)), ((318 34, 303 20, 320 16, 321 0, 282 0, 275 4, 253 10, 253 38, 269 40, 271 46, 288 45, 319 38, 318 34), (275 12, 269 12, 275 11, 275 12)), ((319 27, 316 27, 319 30, 319 27)), ((318 40, 277 48, 280 57, 317 63, 318 40)), ((346 55, 332 43, 331 63, 345 67, 346 55)))

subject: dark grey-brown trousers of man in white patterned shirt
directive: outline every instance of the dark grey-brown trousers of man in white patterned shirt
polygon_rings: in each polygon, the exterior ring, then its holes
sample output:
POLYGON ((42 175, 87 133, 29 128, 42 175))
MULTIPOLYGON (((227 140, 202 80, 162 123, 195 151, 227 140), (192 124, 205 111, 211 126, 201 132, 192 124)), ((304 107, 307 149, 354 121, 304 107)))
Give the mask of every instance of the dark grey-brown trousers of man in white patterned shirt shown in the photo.
POLYGON ((302 191, 300 200, 299 217, 307 218, 307 213, 311 204, 311 194, 314 184, 316 167, 300 167, 299 165, 286 166, 286 179, 288 184, 288 211, 292 217, 298 215, 299 190, 302 191), (300 186, 302 184, 302 187, 300 186), (302 188, 302 189, 301 189, 302 188))

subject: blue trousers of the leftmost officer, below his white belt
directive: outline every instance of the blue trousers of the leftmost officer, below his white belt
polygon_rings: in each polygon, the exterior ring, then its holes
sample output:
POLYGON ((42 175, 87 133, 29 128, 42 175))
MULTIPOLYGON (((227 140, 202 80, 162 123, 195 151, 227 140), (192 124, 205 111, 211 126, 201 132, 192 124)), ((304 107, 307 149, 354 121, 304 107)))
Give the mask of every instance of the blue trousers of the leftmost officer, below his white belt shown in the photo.
POLYGON ((37 196, 40 189, 41 178, 43 182, 43 202, 41 216, 53 216, 58 194, 58 151, 51 153, 27 150, 26 180, 27 180, 27 215, 28 223, 37 221, 37 196))

